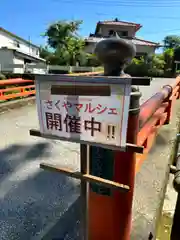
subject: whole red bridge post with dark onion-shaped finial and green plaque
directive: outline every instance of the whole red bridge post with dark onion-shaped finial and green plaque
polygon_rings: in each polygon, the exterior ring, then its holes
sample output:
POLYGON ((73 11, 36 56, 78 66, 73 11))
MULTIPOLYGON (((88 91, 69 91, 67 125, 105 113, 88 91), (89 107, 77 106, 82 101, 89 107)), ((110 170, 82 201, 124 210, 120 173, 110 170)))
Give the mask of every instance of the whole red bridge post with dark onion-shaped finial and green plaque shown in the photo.
MULTIPOLYGON (((117 43, 117 41, 119 40, 102 41, 96 47, 98 57, 104 62, 106 75, 119 76, 124 63, 123 58, 130 58, 133 54, 131 45, 126 45, 121 41, 117 43), (114 44, 113 41, 115 41, 114 44), (106 43, 107 46, 105 46, 106 43)), ((123 77, 124 73, 121 73, 121 76, 123 77)), ((132 111, 130 111, 129 115, 127 136, 129 143, 136 143, 139 97, 140 93, 135 92, 131 99, 132 111)), ((91 146, 89 169, 92 175, 129 185, 130 191, 128 193, 121 193, 116 190, 111 191, 108 188, 90 184, 88 198, 88 239, 129 240, 135 178, 135 153, 118 152, 91 146)))

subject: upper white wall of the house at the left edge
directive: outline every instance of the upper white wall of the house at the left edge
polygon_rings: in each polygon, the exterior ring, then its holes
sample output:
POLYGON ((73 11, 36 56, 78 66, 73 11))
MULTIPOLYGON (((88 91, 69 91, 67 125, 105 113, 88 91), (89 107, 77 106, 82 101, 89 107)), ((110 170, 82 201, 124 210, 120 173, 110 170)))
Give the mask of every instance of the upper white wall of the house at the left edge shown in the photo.
POLYGON ((38 47, 35 47, 22 40, 19 40, 18 38, 12 37, 0 30, 0 48, 2 47, 18 48, 19 50, 21 50, 24 53, 27 53, 28 55, 39 57, 38 47))

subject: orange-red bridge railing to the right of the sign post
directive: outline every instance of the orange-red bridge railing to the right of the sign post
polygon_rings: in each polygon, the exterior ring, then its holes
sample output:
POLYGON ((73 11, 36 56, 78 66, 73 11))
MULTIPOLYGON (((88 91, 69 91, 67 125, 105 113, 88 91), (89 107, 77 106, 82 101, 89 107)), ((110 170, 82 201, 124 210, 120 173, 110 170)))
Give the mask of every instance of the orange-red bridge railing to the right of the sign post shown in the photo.
POLYGON ((174 101, 180 98, 180 77, 171 86, 164 86, 162 90, 141 105, 139 114, 139 126, 137 144, 144 147, 144 154, 136 156, 136 172, 147 157, 158 128, 168 124, 171 119, 174 101), (171 92, 172 88, 172 92, 171 92))

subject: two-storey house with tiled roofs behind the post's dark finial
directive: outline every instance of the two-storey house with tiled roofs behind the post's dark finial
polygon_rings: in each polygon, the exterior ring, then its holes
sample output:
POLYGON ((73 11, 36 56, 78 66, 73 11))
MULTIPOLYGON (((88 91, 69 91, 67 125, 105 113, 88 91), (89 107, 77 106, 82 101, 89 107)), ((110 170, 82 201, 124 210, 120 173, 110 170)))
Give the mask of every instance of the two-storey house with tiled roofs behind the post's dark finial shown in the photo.
POLYGON ((96 25, 95 33, 85 38, 85 50, 87 53, 93 53, 96 43, 116 33, 120 38, 131 41, 136 45, 136 57, 153 54, 160 45, 137 38, 136 33, 141 27, 140 24, 119 21, 117 18, 114 21, 100 21, 96 25))

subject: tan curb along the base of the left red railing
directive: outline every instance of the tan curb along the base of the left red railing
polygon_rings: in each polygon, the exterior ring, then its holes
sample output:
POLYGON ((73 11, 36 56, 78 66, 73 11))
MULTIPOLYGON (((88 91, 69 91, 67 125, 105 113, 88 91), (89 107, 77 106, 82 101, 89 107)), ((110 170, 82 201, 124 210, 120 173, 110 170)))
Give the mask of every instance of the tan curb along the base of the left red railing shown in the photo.
POLYGON ((0 113, 4 113, 4 112, 7 112, 12 109, 16 109, 16 108, 34 104, 35 101, 36 101, 36 97, 33 96, 33 97, 28 97, 28 98, 23 98, 23 99, 0 103, 0 113))

